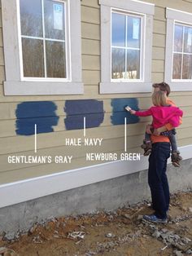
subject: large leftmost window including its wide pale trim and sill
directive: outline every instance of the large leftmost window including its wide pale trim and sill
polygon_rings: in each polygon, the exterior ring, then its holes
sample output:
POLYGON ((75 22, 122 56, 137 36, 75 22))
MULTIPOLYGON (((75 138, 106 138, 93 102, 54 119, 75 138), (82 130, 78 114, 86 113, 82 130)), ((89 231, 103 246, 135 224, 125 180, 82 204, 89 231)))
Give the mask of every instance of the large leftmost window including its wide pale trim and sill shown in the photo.
POLYGON ((80 0, 2 0, 5 95, 83 93, 80 7, 80 0))

